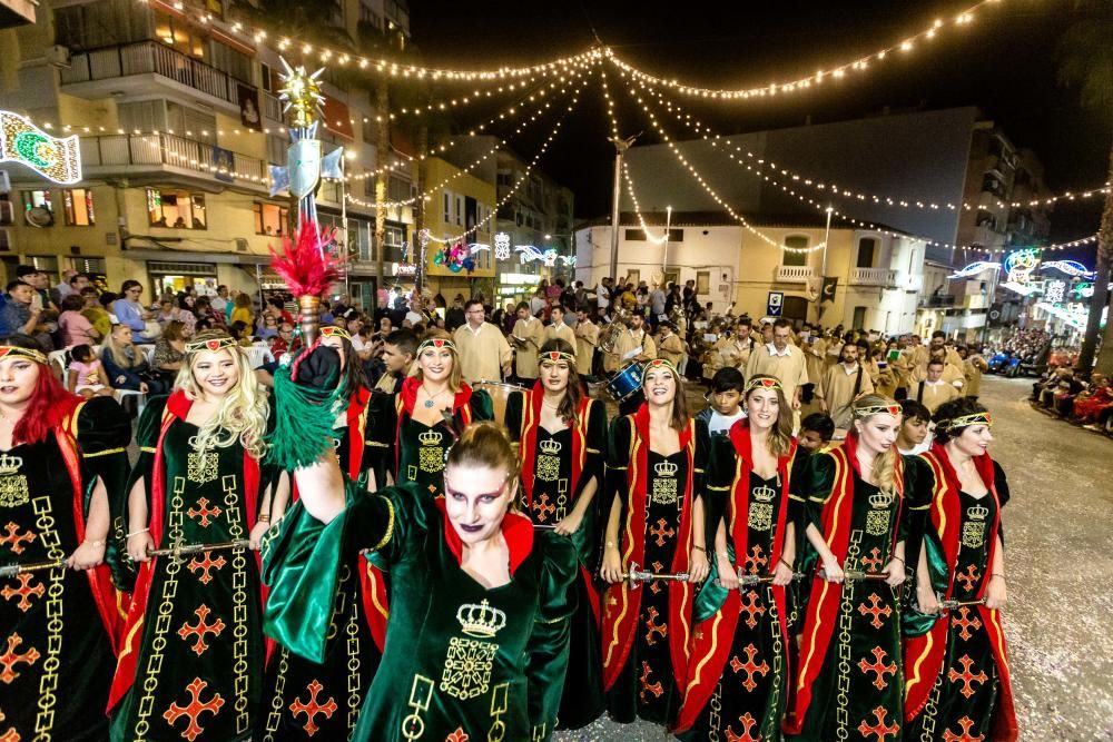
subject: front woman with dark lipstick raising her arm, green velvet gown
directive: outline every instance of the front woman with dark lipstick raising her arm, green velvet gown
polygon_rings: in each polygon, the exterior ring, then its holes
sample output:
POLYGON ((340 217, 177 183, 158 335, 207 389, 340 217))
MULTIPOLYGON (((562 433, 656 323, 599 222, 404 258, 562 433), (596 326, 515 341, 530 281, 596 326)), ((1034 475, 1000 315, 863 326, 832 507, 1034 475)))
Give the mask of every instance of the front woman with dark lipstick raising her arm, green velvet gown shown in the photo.
POLYGON ((549 740, 577 555, 571 540, 534 531, 519 512, 505 432, 465 428, 435 498, 416 483, 364 494, 325 443, 316 464, 295 472, 301 498, 265 545, 270 634, 322 656, 348 558, 371 551, 390 568, 391 614, 351 739, 549 740))

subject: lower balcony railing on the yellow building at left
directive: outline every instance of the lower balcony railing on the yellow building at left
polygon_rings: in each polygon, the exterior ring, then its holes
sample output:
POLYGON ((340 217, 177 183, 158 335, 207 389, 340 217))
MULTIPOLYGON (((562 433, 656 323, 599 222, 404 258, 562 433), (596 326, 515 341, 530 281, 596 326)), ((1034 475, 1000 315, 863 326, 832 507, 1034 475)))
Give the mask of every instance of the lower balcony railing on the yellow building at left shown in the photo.
POLYGON ((204 172, 217 180, 265 186, 267 164, 170 133, 81 137, 81 164, 86 168, 111 166, 170 166, 204 172))

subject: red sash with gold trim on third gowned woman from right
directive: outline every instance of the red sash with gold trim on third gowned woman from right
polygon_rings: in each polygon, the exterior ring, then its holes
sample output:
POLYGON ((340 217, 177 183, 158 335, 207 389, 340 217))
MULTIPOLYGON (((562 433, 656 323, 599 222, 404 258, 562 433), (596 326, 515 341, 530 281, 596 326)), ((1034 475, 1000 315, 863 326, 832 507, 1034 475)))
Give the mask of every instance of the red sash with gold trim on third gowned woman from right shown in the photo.
MULTIPOLYGON (((754 471, 752 441, 750 438, 749 423, 740 419, 735 423, 729 432, 731 444, 735 446, 735 478, 730 487, 730 536, 735 545, 735 565, 745 566, 746 556, 749 553, 749 504, 750 504, 750 476, 754 471)), ((772 554, 769 555, 769 573, 777 567, 785 546, 785 528, 788 522, 788 492, 789 477, 792 472, 792 457, 796 455, 796 438, 789 446, 788 454, 777 458, 777 473, 780 475, 781 497, 780 506, 777 511, 777 534, 774 537, 772 554)), ((799 537, 799 536, 798 536, 799 537)), ((777 606, 777 619, 780 623, 782 646, 788 646, 788 624, 786 620, 785 588, 774 587, 774 602, 777 606)), ((741 592, 730 591, 726 602, 711 619, 711 625, 706 624, 702 631, 697 631, 692 639, 690 665, 692 672, 688 679, 688 689, 684 692, 683 704, 677 716, 677 731, 690 729, 696 723, 696 718, 707 705, 715 693, 716 685, 722 676, 723 667, 727 665, 727 657, 730 655, 731 642, 735 631, 738 629, 738 616, 741 613, 741 592)), ((788 672, 786 661, 786 677, 791 677, 788 672)))

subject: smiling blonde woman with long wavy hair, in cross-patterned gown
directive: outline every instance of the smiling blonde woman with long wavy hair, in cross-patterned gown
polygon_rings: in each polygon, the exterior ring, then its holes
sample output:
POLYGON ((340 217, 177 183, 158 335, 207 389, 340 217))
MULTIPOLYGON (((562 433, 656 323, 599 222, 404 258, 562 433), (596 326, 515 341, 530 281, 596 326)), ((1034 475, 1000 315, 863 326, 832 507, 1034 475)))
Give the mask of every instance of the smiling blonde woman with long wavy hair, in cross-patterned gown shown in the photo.
POLYGON ((250 550, 289 494, 260 465, 269 417, 247 357, 220 332, 186 344, 176 390, 144 410, 125 518, 139 575, 109 698, 114 741, 180 740, 194 724, 211 739, 252 739, 266 656, 250 550), (211 548, 152 555, 175 545, 211 548), (191 703, 209 711, 174 713, 191 703))

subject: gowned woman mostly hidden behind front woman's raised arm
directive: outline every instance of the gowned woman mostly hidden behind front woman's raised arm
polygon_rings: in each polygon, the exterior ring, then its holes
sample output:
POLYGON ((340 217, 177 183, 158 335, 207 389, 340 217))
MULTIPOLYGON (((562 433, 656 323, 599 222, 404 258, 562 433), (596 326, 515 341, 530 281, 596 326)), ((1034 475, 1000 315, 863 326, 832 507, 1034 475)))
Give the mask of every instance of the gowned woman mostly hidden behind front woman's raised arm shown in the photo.
MULTIPOLYGON (((351 335, 339 327, 322 327, 321 345, 339 354, 342 398, 346 400, 335 410, 333 446, 357 491, 375 492, 378 457, 367 438, 372 394, 351 335)), ((266 673, 257 734, 262 742, 346 740, 355 730, 363 696, 382 659, 386 630, 385 596, 375 594, 368 567, 366 557, 357 554, 341 575, 323 662, 277 647, 266 673)))

